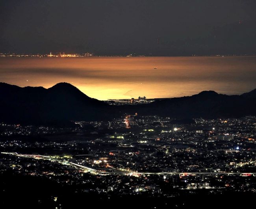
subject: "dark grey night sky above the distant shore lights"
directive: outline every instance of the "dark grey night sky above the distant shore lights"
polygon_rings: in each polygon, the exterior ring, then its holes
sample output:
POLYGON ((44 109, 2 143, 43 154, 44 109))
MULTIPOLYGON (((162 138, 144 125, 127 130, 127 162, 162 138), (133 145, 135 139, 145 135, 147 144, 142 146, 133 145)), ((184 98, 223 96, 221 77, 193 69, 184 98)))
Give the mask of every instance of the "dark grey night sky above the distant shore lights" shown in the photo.
POLYGON ((1 0, 0 52, 256 53, 255 0, 1 0))

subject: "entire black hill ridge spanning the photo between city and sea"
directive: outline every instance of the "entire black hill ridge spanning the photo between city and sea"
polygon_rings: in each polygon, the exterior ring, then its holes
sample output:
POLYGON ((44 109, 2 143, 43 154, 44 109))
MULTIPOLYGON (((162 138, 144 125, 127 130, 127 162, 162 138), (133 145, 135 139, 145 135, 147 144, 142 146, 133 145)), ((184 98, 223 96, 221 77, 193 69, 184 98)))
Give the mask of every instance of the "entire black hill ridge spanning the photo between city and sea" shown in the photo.
POLYGON ((123 114, 172 118, 218 118, 256 115, 256 90, 242 95, 203 91, 187 97, 164 99, 145 105, 110 106, 83 94, 69 83, 51 88, 0 83, 0 122, 56 123, 70 120, 108 120, 123 114))

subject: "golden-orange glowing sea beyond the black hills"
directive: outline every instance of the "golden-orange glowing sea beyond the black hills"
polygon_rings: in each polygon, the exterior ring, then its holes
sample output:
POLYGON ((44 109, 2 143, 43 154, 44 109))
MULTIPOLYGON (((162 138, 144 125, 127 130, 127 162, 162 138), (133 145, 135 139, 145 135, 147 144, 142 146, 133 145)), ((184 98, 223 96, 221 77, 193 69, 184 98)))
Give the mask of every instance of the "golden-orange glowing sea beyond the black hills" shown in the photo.
POLYGON ((67 82, 100 100, 242 94, 256 88, 256 57, 0 57, 0 82, 67 82))

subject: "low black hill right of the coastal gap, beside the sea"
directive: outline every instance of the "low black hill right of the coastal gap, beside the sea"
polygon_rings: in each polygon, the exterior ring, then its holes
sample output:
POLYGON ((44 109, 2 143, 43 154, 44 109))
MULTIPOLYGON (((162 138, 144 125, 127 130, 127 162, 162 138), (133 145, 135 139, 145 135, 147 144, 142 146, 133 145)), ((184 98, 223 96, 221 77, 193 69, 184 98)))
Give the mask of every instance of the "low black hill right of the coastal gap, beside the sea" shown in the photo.
POLYGON ((242 95, 224 95, 203 91, 189 97, 155 101, 137 107, 139 114, 176 118, 221 118, 256 115, 256 90, 242 95))

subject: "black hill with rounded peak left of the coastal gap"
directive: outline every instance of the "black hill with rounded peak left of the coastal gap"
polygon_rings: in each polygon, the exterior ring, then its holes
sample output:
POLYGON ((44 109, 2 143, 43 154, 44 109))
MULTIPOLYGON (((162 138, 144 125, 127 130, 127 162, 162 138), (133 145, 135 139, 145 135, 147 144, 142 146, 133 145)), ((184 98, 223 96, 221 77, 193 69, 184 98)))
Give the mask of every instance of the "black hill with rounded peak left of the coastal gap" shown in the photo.
POLYGON ((89 121, 106 117, 110 108, 69 83, 58 83, 48 89, 0 83, 0 121, 30 124, 89 121))

